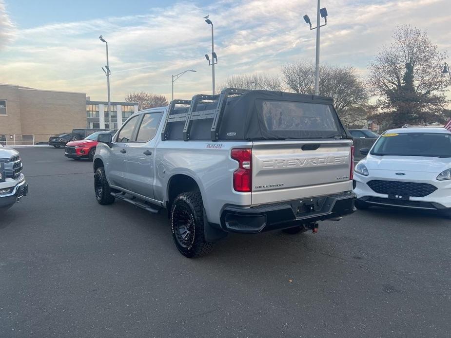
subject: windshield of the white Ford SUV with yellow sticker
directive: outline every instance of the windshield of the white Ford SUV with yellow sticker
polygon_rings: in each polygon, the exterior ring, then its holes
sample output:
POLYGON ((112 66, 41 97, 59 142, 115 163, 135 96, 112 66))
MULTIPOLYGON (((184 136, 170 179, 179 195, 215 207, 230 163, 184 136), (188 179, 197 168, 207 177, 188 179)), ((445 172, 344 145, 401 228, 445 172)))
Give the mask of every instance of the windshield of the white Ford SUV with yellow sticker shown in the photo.
POLYGON ((451 157, 451 134, 432 132, 386 133, 372 155, 451 157))

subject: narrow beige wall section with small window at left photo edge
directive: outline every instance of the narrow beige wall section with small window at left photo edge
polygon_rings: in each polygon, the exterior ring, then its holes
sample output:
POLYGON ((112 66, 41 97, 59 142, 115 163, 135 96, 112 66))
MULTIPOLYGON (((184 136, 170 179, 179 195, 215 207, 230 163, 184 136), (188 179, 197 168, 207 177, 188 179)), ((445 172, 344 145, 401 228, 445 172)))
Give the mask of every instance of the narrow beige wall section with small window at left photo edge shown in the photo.
POLYGON ((0 134, 21 134, 19 86, 0 84, 0 100, 6 100, 6 115, 0 115, 0 134))

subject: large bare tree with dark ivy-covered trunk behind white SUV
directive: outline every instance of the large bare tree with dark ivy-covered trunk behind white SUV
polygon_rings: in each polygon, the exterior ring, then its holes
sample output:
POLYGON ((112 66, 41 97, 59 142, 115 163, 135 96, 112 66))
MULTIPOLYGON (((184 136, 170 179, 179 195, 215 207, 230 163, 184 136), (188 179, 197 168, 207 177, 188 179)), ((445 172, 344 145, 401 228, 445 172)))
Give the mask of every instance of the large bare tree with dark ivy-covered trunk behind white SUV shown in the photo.
POLYGON ((390 127, 443 121, 447 83, 440 70, 446 53, 410 25, 396 27, 392 38, 370 65, 370 83, 381 97, 381 113, 373 117, 390 127))

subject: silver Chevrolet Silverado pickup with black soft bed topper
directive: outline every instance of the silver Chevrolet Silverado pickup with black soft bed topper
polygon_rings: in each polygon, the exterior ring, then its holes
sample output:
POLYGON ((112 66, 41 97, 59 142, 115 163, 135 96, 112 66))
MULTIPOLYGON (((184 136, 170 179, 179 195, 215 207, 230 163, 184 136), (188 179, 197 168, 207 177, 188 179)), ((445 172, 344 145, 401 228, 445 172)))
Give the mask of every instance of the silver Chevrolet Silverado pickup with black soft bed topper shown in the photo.
POLYGON ((354 211, 352 137, 329 98, 228 88, 135 113, 99 142, 98 203, 167 209, 186 257, 228 232, 316 232, 354 211))

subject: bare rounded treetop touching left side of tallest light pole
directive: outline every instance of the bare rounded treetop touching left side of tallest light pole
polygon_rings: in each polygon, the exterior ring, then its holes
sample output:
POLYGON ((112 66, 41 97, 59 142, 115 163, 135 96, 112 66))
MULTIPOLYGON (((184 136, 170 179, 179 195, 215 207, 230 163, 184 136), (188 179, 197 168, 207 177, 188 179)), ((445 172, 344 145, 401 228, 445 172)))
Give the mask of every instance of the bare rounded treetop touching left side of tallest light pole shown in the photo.
POLYGON ((282 66, 281 72, 285 84, 294 93, 314 93, 315 69, 312 63, 305 61, 288 63, 282 66))

